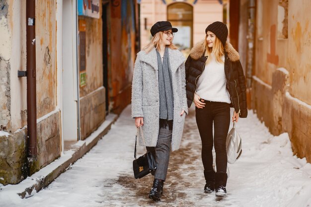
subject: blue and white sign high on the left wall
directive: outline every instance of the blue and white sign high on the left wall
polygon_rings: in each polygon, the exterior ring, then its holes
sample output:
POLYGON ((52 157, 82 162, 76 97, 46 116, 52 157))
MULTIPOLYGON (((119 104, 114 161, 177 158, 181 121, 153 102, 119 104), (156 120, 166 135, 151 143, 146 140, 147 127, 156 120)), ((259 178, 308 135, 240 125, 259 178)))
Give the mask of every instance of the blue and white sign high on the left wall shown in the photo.
POLYGON ((78 0, 78 15, 99 19, 99 0, 78 0))

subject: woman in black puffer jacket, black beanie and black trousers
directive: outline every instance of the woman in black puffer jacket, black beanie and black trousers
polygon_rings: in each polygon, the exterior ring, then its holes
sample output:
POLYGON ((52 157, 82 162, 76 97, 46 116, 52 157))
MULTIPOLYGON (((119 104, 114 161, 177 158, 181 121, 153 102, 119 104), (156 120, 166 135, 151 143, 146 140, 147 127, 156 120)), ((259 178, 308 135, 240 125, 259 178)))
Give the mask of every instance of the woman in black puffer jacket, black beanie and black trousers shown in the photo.
POLYGON ((227 195, 226 138, 232 121, 247 117, 246 86, 239 55, 227 41, 228 29, 222 22, 210 24, 205 40, 194 46, 185 63, 188 107, 194 102, 196 121, 202 140, 205 193, 227 195), (214 124, 214 137, 213 137, 214 124), (213 142, 216 168, 213 169, 213 142))

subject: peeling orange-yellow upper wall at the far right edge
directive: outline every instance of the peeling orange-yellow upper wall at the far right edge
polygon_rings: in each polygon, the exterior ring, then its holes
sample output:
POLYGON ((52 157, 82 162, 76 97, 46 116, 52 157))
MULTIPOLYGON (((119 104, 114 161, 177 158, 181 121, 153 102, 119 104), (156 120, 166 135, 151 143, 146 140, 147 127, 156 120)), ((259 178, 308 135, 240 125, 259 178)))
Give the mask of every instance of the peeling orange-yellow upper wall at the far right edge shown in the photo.
MULTIPOLYGON (((289 92, 311 105, 311 1, 289 1, 289 39, 287 60, 289 92)), ((280 48, 280 52, 283 52, 280 48)), ((283 52, 284 53, 284 52, 283 52)))

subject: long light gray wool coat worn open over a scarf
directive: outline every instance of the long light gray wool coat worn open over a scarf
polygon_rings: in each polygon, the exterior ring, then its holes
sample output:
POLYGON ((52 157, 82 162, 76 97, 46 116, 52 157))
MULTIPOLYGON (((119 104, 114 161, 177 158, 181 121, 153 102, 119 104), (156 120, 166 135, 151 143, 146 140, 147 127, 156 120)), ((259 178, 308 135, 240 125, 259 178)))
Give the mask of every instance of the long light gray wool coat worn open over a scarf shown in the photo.
MULTIPOLYGON (((173 131, 171 150, 179 148, 186 113, 185 58, 179 50, 168 49, 173 88, 173 131), (181 110, 185 110, 180 116, 181 110)), ((159 132, 159 90, 156 49, 137 54, 132 82, 132 118, 143 117, 146 146, 156 146, 159 132)), ((139 133, 139 144, 144 145, 139 133)))

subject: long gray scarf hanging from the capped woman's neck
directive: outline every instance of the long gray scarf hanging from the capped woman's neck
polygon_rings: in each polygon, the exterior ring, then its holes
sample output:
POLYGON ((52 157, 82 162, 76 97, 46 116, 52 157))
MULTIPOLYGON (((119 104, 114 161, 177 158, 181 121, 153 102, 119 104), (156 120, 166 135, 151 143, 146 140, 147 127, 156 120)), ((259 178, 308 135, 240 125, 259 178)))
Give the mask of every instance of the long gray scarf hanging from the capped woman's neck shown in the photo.
MULTIPOLYGON (((173 120, 173 88, 172 72, 169 65, 168 48, 165 47, 163 63, 161 56, 156 50, 158 66, 158 85, 160 99, 160 116, 162 120, 173 120)), ((172 122, 171 122, 172 123, 172 122)))

